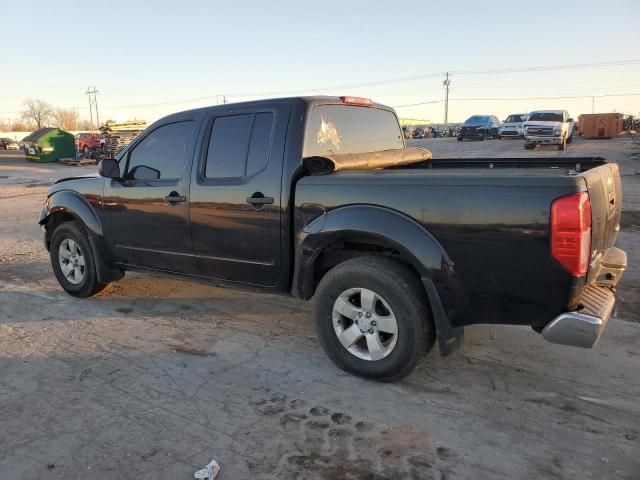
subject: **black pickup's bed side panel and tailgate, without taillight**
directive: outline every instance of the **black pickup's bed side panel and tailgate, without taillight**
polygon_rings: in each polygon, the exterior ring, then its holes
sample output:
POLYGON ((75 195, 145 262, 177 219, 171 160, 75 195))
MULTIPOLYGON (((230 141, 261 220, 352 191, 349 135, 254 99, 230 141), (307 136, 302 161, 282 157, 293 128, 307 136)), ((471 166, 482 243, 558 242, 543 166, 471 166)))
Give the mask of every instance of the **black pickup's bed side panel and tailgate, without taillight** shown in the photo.
POLYGON ((345 205, 374 205, 410 217, 442 245, 455 265, 464 305, 457 324, 545 325, 577 308, 588 284, 550 255, 549 218, 557 198, 588 191, 592 250, 616 239, 620 177, 602 158, 437 159, 372 171, 303 177, 296 205, 331 214, 345 205))

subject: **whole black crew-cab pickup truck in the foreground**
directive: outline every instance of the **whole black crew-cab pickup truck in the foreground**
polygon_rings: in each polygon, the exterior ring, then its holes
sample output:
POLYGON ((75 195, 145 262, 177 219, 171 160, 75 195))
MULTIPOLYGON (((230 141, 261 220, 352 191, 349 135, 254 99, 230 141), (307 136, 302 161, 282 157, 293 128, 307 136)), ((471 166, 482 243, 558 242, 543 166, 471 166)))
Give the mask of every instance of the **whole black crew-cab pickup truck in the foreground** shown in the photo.
POLYGON ((176 113, 103 160, 100 176, 55 183, 40 225, 71 295, 142 269, 314 298, 328 356, 379 380, 407 375, 436 341, 450 354, 470 324, 595 345, 627 262, 614 247, 618 166, 314 167, 406 151, 394 111, 355 97, 176 113))

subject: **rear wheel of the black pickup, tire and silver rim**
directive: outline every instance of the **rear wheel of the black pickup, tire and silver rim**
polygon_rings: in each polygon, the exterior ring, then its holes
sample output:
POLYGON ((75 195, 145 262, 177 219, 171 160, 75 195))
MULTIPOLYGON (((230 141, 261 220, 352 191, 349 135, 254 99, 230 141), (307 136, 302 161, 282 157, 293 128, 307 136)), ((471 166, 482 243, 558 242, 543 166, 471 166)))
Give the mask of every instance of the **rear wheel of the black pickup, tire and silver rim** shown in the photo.
POLYGON ((383 257, 330 270, 316 290, 314 316, 320 344, 339 368, 384 382, 411 373, 435 341, 418 279, 383 257))

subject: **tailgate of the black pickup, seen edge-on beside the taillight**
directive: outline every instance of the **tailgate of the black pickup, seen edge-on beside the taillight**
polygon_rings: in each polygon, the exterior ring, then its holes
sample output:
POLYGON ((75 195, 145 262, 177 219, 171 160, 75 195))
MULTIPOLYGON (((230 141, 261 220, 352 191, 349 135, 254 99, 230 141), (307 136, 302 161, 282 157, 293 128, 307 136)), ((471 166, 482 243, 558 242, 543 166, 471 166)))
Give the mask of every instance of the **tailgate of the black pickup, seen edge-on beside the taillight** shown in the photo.
POLYGON ((581 175, 587 182, 591 201, 591 280, 597 270, 594 267, 600 263, 607 249, 614 245, 618 236, 622 188, 620 170, 615 163, 601 165, 581 175))

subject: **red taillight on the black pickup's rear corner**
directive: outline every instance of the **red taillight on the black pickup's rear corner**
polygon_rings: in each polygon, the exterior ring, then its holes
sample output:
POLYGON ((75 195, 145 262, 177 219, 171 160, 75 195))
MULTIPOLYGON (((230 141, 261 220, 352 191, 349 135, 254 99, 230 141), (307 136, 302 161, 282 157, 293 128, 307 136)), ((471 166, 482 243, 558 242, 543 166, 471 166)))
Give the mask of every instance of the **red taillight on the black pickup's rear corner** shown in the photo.
POLYGON ((588 193, 560 197, 551 204, 551 256, 576 277, 589 271, 591 202, 588 193))

